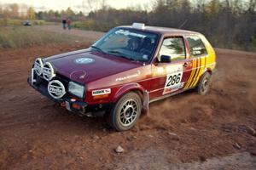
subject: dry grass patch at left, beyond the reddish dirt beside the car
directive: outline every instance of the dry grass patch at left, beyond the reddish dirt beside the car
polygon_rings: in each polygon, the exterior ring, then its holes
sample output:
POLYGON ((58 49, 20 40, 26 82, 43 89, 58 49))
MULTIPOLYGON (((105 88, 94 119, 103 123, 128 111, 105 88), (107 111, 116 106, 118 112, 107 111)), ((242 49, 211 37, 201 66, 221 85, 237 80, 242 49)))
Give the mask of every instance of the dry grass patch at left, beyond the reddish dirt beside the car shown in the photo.
POLYGON ((28 48, 49 43, 67 43, 81 40, 80 37, 38 31, 33 27, 0 27, 0 48, 28 48))

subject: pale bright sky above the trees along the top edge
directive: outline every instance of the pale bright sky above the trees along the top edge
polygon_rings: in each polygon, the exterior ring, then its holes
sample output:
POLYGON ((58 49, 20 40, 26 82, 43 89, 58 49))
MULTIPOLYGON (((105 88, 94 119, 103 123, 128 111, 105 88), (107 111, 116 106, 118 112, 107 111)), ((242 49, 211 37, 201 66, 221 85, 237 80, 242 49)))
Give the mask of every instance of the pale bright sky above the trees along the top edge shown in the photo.
MULTIPOLYGON (((86 6, 88 1, 95 2, 95 0, 0 0, 0 3, 25 3, 38 10, 61 10, 68 7, 76 11, 83 11, 83 6, 86 6)), ((127 8, 135 7, 137 5, 152 4, 154 0, 105 0, 106 3, 113 8, 127 8)), ((96 6, 94 3, 93 6, 96 6)))

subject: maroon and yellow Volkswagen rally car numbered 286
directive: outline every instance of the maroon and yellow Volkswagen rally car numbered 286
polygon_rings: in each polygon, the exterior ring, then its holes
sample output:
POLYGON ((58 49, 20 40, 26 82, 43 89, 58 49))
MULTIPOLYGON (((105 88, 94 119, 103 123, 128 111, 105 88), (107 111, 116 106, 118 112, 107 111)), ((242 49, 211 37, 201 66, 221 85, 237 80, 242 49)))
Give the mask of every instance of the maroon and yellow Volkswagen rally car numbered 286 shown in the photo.
POLYGON ((111 127, 125 131, 153 101, 191 88, 207 94, 215 58, 201 33, 134 23, 90 48, 36 59, 28 82, 68 111, 105 113, 111 127))

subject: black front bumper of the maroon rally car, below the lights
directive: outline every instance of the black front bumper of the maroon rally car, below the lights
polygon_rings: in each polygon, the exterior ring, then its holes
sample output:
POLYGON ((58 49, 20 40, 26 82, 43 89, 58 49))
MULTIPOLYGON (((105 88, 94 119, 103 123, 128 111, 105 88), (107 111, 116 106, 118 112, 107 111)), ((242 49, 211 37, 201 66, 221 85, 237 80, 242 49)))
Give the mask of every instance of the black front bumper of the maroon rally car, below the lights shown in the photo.
POLYGON ((78 113, 80 116, 101 116, 108 110, 111 104, 98 104, 98 105, 88 105, 84 101, 79 101, 77 99, 73 99, 69 96, 64 96, 61 99, 52 98, 48 89, 41 84, 37 84, 36 82, 32 83, 32 77, 27 78, 28 84, 37 90, 40 94, 43 94, 47 98, 51 99, 55 103, 60 104, 62 107, 65 107, 68 111, 72 111, 74 113, 78 113))

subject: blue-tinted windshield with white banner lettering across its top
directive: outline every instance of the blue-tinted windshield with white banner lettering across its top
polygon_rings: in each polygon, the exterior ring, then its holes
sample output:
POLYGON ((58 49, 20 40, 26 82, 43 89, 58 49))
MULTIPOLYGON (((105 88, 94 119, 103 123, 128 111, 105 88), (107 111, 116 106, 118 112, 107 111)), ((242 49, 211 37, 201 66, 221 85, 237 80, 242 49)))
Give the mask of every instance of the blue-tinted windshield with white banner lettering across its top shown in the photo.
POLYGON ((154 33, 114 28, 94 43, 91 48, 105 54, 147 62, 153 54, 157 38, 158 35, 154 33))

